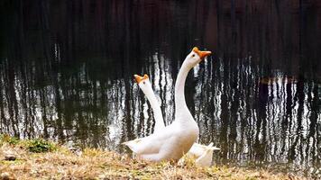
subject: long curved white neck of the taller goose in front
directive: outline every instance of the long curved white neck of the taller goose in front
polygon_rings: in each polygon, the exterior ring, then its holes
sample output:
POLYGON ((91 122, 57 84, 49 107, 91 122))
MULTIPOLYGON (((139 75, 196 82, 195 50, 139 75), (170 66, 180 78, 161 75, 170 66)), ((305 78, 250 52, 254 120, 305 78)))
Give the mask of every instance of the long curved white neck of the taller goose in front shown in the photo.
POLYGON ((188 76, 188 72, 191 69, 191 67, 188 67, 188 65, 185 63, 182 64, 182 66, 179 69, 179 75, 176 79, 175 83, 175 112, 179 113, 182 108, 188 109, 188 106, 185 102, 185 81, 188 76))

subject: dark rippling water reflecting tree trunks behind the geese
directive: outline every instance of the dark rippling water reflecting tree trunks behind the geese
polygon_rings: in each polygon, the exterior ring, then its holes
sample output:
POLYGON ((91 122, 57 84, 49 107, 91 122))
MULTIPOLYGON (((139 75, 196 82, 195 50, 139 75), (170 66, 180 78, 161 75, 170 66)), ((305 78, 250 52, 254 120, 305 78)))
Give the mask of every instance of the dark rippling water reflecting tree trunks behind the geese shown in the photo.
POLYGON ((317 1, 1 1, 0 128, 124 152, 152 131, 133 74, 151 76, 166 123, 190 49, 214 55, 187 80, 199 141, 217 164, 317 174, 321 4, 317 1), (279 167, 278 167, 279 168, 279 167))

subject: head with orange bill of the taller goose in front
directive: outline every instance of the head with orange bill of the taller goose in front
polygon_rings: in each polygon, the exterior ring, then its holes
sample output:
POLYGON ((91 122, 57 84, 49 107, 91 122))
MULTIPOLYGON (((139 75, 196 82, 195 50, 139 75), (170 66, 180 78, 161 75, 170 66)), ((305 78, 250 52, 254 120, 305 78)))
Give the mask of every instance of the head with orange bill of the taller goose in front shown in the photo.
POLYGON ((188 67, 195 67, 199 62, 211 54, 211 51, 199 50, 197 47, 194 47, 185 58, 185 61, 188 63, 188 67))

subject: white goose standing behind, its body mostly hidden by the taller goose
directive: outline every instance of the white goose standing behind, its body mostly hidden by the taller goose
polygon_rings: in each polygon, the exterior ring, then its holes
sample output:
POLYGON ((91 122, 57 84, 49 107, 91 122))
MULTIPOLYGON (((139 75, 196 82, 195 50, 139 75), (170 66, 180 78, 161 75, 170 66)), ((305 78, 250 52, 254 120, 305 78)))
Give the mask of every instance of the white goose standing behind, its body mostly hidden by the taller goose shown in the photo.
MULTIPOLYGON (((151 109, 152 112, 154 112, 155 118, 154 131, 156 132, 161 130, 165 127, 165 124, 161 114, 161 106, 156 99, 154 91, 152 90, 149 76, 145 74, 144 76, 134 75, 134 77, 143 94, 146 95, 148 101, 151 103, 151 109)), ((220 150, 220 148, 213 147, 213 142, 211 142, 208 146, 195 142, 192 148, 189 149, 187 156, 196 159, 197 166, 211 166, 214 150, 220 150)), ((182 159, 180 160, 183 161, 182 159)))

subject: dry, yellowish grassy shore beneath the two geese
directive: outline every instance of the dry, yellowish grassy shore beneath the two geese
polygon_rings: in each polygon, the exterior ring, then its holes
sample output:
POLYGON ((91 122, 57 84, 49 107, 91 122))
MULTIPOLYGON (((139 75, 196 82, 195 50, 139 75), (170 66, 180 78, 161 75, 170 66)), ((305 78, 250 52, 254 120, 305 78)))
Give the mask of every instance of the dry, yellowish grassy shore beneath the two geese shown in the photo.
POLYGON ((0 157, 0 179, 305 179, 262 168, 198 167, 190 159, 184 166, 144 162, 94 148, 74 153, 42 139, 5 135, 0 137, 0 157))

